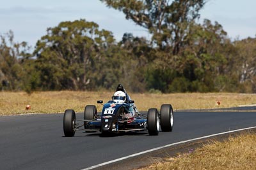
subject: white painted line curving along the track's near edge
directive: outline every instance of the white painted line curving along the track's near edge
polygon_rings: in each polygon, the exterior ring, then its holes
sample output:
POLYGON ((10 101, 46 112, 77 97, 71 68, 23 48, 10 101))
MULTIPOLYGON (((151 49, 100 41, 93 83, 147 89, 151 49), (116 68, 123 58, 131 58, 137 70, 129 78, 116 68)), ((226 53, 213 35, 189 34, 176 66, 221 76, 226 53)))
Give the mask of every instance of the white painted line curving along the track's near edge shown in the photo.
POLYGON ((153 149, 151 149, 151 150, 145 150, 145 151, 143 151, 143 152, 134 153, 134 154, 128 155, 128 156, 126 156, 126 157, 122 157, 122 158, 119 158, 119 159, 110 160, 110 161, 108 161, 108 162, 104 162, 104 163, 102 163, 102 164, 98 164, 98 165, 95 165, 95 166, 87 167, 87 168, 81 169, 81 170, 89 170, 89 169, 93 169, 93 168, 100 167, 100 166, 106 166, 106 165, 111 164, 111 163, 113 163, 113 162, 118 162, 118 161, 120 161, 120 160, 129 159, 129 158, 131 158, 131 157, 136 157, 136 156, 142 155, 142 154, 144 154, 144 153, 153 152, 153 151, 156 151, 156 150, 161 150, 161 149, 163 149, 163 148, 168 148, 168 147, 170 147, 170 146, 179 145, 179 144, 182 144, 182 143, 188 143, 188 142, 196 141, 196 140, 199 140, 199 139, 210 138, 210 137, 218 136, 218 135, 221 135, 221 134, 228 134, 228 133, 232 133, 232 132, 244 131, 244 130, 253 129, 253 128, 256 128, 256 126, 254 126, 254 127, 247 127, 247 128, 244 128, 244 129, 237 129, 237 130, 234 130, 234 131, 221 132, 221 133, 218 133, 218 134, 211 134, 211 135, 208 135, 208 136, 202 136, 202 137, 200 137, 200 138, 188 139, 188 140, 186 140, 186 141, 180 141, 180 142, 177 142, 177 143, 171 143, 171 144, 169 144, 169 145, 159 146, 159 147, 153 148, 153 149))

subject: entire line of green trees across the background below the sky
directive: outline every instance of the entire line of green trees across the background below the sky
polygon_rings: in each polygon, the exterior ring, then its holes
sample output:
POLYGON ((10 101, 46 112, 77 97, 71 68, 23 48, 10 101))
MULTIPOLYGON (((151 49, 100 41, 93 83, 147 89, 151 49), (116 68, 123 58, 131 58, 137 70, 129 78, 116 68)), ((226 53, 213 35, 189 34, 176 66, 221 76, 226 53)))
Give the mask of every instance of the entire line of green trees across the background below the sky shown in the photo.
POLYGON ((198 23, 204 0, 100 0, 144 27, 150 39, 85 19, 47 29, 33 52, 13 32, 0 38, 2 90, 256 92, 256 39, 232 41, 218 22, 198 23))

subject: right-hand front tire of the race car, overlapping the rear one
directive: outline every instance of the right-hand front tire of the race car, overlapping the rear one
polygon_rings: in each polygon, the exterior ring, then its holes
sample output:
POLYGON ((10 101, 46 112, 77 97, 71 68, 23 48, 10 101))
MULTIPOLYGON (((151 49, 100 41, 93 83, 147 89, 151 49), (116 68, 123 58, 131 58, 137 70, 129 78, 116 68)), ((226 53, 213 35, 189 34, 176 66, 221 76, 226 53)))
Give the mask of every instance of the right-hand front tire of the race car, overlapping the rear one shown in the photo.
POLYGON ((157 109, 149 109, 148 110, 148 134, 149 135, 158 135, 159 127, 160 127, 159 114, 157 109))

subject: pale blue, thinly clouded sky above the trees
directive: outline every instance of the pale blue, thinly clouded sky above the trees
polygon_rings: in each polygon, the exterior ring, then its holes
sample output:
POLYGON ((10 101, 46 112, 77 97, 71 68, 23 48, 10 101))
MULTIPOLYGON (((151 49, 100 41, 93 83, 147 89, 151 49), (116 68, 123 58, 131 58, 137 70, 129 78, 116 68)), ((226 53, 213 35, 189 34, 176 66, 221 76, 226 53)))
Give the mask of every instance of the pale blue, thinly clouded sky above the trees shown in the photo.
MULTIPOLYGON (((255 38, 255 7, 255 0, 207 0, 198 22, 204 18, 212 23, 217 21, 231 39, 255 38)), ((47 34, 48 27, 80 19, 113 32, 117 41, 125 32, 150 38, 146 29, 126 20, 121 11, 108 8, 99 0, 0 0, 0 34, 12 30, 15 42, 26 41, 31 46, 47 34)))

